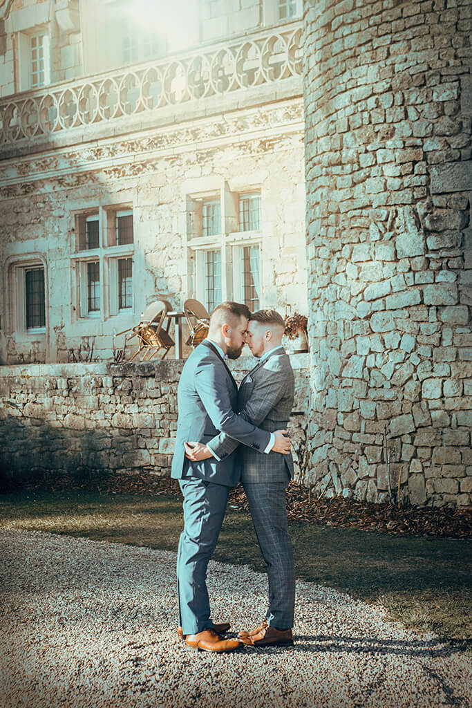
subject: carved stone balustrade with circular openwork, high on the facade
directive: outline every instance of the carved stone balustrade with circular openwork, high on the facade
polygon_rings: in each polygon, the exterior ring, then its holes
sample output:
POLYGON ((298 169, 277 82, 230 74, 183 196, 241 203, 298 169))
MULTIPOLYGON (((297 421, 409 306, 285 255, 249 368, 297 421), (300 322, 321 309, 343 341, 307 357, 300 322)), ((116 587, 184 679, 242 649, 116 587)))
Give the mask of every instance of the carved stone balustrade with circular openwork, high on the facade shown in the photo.
MULTIPOLYGON (((84 139, 84 129, 100 123, 106 130, 113 122, 115 132, 120 120, 135 116, 139 122, 166 108, 175 113, 183 106, 179 113, 185 120, 197 101, 260 92, 287 79, 299 79, 301 93, 301 72, 301 24, 296 22, 118 72, 23 91, 0 101, 0 154, 28 146, 30 152, 35 144, 65 138, 76 128, 84 139)), ((226 101, 222 107, 226 110, 226 101)))

